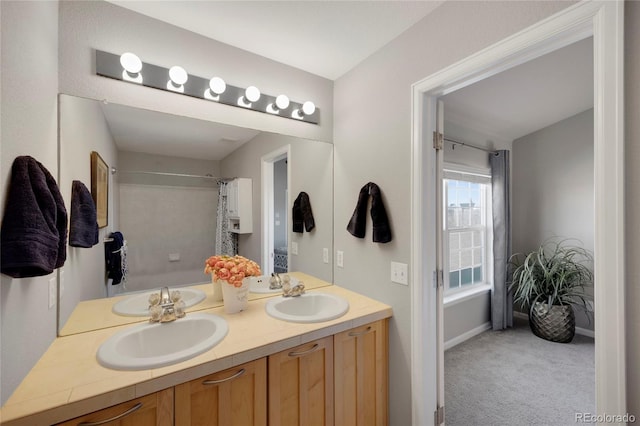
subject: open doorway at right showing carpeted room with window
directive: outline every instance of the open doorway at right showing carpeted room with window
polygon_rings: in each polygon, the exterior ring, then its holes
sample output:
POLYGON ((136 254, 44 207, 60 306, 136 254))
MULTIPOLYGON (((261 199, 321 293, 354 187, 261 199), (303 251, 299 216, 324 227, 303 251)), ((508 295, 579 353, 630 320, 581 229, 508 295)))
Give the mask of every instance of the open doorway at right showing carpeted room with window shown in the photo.
MULTIPOLYGON (((529 330, 528 307, 493 312, 503 308, 492 301, 494 276, 504 280, 494 269, 505 266, 504 258, 494 265, 494 223, 509 255, 550 238, 593 253, 593 39, 440 100, 446 423, 569 424, 595 413, 593 321, 580 305, 570 308, 578 335, 550 344, 529 330), (507 218, 492 209, 502 202, 492 194, 500 154, 509 157, 507 218)), ((585 292, 593 295, 591 282, 585 292)))

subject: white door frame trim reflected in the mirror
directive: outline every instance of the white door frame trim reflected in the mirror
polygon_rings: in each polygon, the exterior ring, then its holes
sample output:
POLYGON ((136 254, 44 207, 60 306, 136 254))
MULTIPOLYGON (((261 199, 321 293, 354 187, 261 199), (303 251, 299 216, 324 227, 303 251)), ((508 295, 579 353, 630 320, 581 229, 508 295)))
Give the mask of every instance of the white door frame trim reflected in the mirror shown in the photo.
MULTIPOLYGON (((270 274, 274 268, 274 258, 269 256, 270 250, 273 251, 274 245, 274 230, 273 223, 275 221, 274 205, 273 205, 273 164, 283 158, 287 159, 287 206, 291 205, 289 200, 289 191, 291 187, 291 145, 284 145, 274 151, 265 154, 260 159, 261 175, 262 175, 262 189, 260 199, 262 200, 262 235, 260 247, 260 257, 262 258, 262 265, 266 265, 266 269, 263 274, 270 274)), ((289 215, 286 217, 286 221, 289 220, 289 215)), ((289 224, 285 223, 286 229, 289 229, 289 224)), ((287 239, 287 245, 291 245, 289 239, 287 239)), ((290 253, 291 250, 287 250, 290 253)), ((289 254, 287 254, 289 256, 289 254)), ((287 259, 287 265, 290 265, 290 259, 287 259)), ((264 266, 263 266, 264 268, 264 266)))

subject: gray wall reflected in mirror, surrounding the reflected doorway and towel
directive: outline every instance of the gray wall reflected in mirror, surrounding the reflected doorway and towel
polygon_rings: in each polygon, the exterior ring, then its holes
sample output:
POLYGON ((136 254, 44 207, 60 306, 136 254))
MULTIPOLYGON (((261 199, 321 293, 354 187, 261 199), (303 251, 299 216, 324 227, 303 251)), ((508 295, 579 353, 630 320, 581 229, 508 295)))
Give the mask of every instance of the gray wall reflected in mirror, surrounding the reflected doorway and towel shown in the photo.
POLYGON ((298 243, 298 255, 289 257, 291 271, 302 271, 325 281, 333 282, 333 265, 323 263, 322 249, 333 247, 333 145, 291 136, 262 133, 220 162, 225 176, 241 176, 252 179, 253 184, 253 232, 240 234, 240 254, 249 259, 261 259, 262 235, 262 171, 261 158, 285 145, 291 145, 289 168, 289 206, 293 206, 300 191, 309 194, 316 227, 311 232, 291 233, 291 241, 298 243))

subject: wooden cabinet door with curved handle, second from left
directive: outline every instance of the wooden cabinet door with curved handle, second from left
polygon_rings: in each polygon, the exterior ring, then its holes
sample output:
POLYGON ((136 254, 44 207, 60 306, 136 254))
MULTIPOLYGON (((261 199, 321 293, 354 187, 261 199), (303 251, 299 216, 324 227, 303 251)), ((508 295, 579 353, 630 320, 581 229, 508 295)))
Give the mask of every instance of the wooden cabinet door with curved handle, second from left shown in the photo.
POLYGON ((176 426, 266 426, 267 361, 180 384, 175 394, 176 426))

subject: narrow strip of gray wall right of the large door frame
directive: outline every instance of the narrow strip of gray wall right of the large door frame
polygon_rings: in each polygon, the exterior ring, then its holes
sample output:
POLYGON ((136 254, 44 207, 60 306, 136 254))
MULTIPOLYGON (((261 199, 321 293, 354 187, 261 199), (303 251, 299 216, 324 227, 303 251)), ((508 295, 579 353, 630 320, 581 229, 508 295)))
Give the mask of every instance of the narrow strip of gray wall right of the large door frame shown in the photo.
POLYGON ((640 416, 640 2, 625 2, 625 232, 627 408, 640 416))

